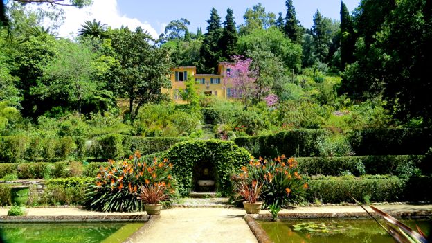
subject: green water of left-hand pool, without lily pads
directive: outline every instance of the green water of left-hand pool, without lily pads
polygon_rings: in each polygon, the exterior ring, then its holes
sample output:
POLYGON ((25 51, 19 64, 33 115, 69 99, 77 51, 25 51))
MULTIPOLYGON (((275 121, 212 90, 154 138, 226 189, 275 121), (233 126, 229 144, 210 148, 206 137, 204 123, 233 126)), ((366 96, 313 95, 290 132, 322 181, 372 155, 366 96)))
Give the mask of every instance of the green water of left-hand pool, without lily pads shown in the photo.
POLYGON ((117 243, 123 242, 144 223, 1 223, 7 243, 117 243))

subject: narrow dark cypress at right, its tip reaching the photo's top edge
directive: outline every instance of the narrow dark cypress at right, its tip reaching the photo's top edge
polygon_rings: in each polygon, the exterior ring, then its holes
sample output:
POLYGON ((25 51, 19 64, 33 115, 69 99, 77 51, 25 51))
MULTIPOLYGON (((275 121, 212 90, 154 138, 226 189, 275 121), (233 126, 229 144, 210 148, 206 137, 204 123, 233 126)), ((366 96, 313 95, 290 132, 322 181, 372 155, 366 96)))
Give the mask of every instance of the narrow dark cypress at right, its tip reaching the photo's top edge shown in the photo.
POLYGON ((341 69, 354 62, 355 37, 352 19, 348 9, 341 1, 341 69))

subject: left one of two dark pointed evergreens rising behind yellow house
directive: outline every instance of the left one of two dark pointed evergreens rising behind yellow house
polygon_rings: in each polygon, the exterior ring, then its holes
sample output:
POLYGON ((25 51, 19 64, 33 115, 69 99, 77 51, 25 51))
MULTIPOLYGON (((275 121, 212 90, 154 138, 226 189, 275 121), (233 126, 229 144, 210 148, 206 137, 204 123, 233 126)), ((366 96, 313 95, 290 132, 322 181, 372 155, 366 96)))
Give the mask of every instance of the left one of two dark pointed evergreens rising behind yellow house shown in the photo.
POLYGON ((210 19, 207 20, 207 33, 204 35, 203 44, 199 50, 201 58, 197 66, 199 73, 214 73, 217 70, 217 62, 222 57, 222 48, 219 39, 222 37, 220 17, 217 10, 212 8, 210 19))

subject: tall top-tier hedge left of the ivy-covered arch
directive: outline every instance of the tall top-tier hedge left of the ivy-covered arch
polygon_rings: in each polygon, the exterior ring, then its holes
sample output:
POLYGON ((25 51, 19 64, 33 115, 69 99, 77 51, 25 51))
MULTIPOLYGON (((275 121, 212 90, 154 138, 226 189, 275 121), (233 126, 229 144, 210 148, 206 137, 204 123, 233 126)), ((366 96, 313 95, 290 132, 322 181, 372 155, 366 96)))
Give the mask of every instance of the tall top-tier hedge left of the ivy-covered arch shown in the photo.
POLYGON ((188 138, 149 138, 105 134, 95 138, 84 136, 38 137, 0 136, 0 163, 23 161, 64 161, 69 158, 94 157, 99 160, 120 159, 134 154, 153 154, 168 150, 188 138))

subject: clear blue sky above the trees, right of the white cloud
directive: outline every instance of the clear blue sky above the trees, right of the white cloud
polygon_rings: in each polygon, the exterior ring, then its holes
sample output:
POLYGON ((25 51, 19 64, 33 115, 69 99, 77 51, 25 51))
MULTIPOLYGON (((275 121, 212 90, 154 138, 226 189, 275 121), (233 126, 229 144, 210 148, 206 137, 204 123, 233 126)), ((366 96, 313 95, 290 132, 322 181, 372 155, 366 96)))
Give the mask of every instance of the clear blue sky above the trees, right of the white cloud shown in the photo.
MULTIPOLYGON (((238 24, 243 22, 243 15, 246 8, 262 3, 267 12, 282 12, 285 17, 285 0, 261 0, 261 1, 244 1, 244 0, 163 0, 163 1, 136 1, 136 0, 119 0, 118 9, 121 14, 127 17, 136 18, 140 21, 147 21, 156 30, 160 31, 160 26, 168 24, 174 19, 186 18, 190 21, 190 30, 195 31, 197 27, 206 29, 206 20, 210 17, 210 10, 215 7, 219 12, 222 21, 226 15, 226 8, 234 11, 235 21, 238 24)), ((344 3, 351 12, 359 5, 359 0, 345 0, 344 3)), ((318 9, 325 17, 339 19, 340 0, 294 0, 297 18, 300 24, 306 28, 312 26, 312 17, 318 9)))

